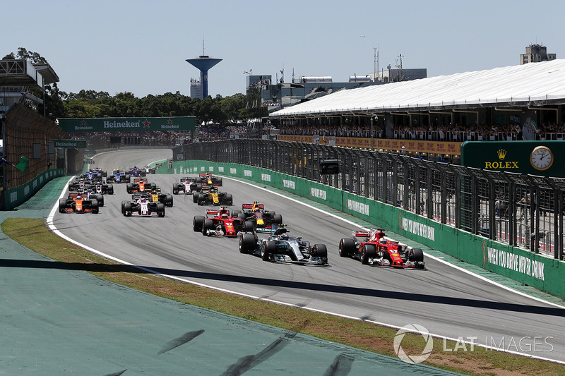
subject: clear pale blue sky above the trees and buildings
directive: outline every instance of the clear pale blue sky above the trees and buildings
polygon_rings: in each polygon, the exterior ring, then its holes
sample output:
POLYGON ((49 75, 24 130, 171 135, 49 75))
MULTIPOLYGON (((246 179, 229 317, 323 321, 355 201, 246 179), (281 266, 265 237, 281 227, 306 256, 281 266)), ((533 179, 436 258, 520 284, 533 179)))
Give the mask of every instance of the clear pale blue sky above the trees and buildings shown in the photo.
MULTIPOLYGON (((27 0, 2 7, 1 56, 18 47, 44 56, 59 89, 190 95, 187 63, 223 59, 208 94, 245 92, 245 71, 285 82, 379 68, 427 68, 428 77, 519 64, 530 44, 565 59, 561 1, 81 1, 27 0), (9 12, 6 13, 6 11, 9 12)), ((1 57, 0 56, 0 57, 1 57)))

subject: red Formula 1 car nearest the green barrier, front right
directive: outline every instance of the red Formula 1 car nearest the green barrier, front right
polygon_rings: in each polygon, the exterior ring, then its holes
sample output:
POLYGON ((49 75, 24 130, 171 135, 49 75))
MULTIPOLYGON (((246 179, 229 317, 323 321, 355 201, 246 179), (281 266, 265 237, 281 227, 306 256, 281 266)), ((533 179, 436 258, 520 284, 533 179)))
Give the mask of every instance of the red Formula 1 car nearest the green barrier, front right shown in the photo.
POLYGON ((420 248, 388 238, 383 230, 353 231, 352 238, 342 238, 341 257, 352 257, 364 265, 424 269, 424 253, 420 248), (362 241, 359 241, 362 238, 362 241))

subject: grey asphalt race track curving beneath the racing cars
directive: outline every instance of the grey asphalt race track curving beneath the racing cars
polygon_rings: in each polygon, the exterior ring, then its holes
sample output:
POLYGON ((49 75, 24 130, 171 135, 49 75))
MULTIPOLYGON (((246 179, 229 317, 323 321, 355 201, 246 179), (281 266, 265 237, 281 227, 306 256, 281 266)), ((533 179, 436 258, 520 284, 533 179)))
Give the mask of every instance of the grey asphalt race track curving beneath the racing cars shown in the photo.
MULTIPOLYGON (((128 169, 170 156, 170 150, 157 149, 107 152, 95 156, 93 166, 128 169)), ((172 193, 172 183, 181 175, 147 177, 172 193)), ((174 207, 166 208, 165 218, 124 217, 121 201, 131 198, 125 184, 114 184, 115 194, 105 197, 100 214, 57 212, 53 224, 64 235, 106 255, 216 289, 395 327, 422 325, 439 336, 565 362, 564 308, 430 257, 424 259, 426 270, 370 267, 342 258, 338 243, 358 229, 354 224, 271 190, 230 178, 223 182, 220 191, 232 193, 232 209, 262 202, 267 210, 283 215, 292 236, 326 244, 331 266, 263 262, 240 254, 237 238, 194 232, 193 218, 204 215, 206 207, 194 204, 191 195, 174 195, 174 207)))

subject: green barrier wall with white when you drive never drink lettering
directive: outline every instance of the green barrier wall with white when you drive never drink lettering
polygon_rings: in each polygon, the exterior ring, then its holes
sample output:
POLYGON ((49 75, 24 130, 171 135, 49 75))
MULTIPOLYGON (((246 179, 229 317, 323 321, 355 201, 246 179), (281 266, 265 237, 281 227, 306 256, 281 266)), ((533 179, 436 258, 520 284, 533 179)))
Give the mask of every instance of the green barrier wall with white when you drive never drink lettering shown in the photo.
MULTIPOLYGON (((157 174, 213 174, 245 178, 273 186, 351 214, 413 241, 422 243, 472 265, 565 298, 565 263, 498 243, 452 226, 434 222, 399 207, 364 198, 304 178, 242 164, 207 161, 175 161, 157 174)), ((344 231, 343 236, 347 236, 344 231)), ((336 244, 337 247, 337 244, 336 244)))

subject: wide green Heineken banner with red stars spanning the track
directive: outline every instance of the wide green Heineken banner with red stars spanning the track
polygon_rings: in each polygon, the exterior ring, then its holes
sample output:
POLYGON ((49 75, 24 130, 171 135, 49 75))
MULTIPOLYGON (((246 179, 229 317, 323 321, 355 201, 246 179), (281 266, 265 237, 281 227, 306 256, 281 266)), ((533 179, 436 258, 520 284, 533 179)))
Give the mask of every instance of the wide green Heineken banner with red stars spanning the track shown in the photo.
POLYGON ((194 131, 196 117, 59 119, 65 132, 194 131))

